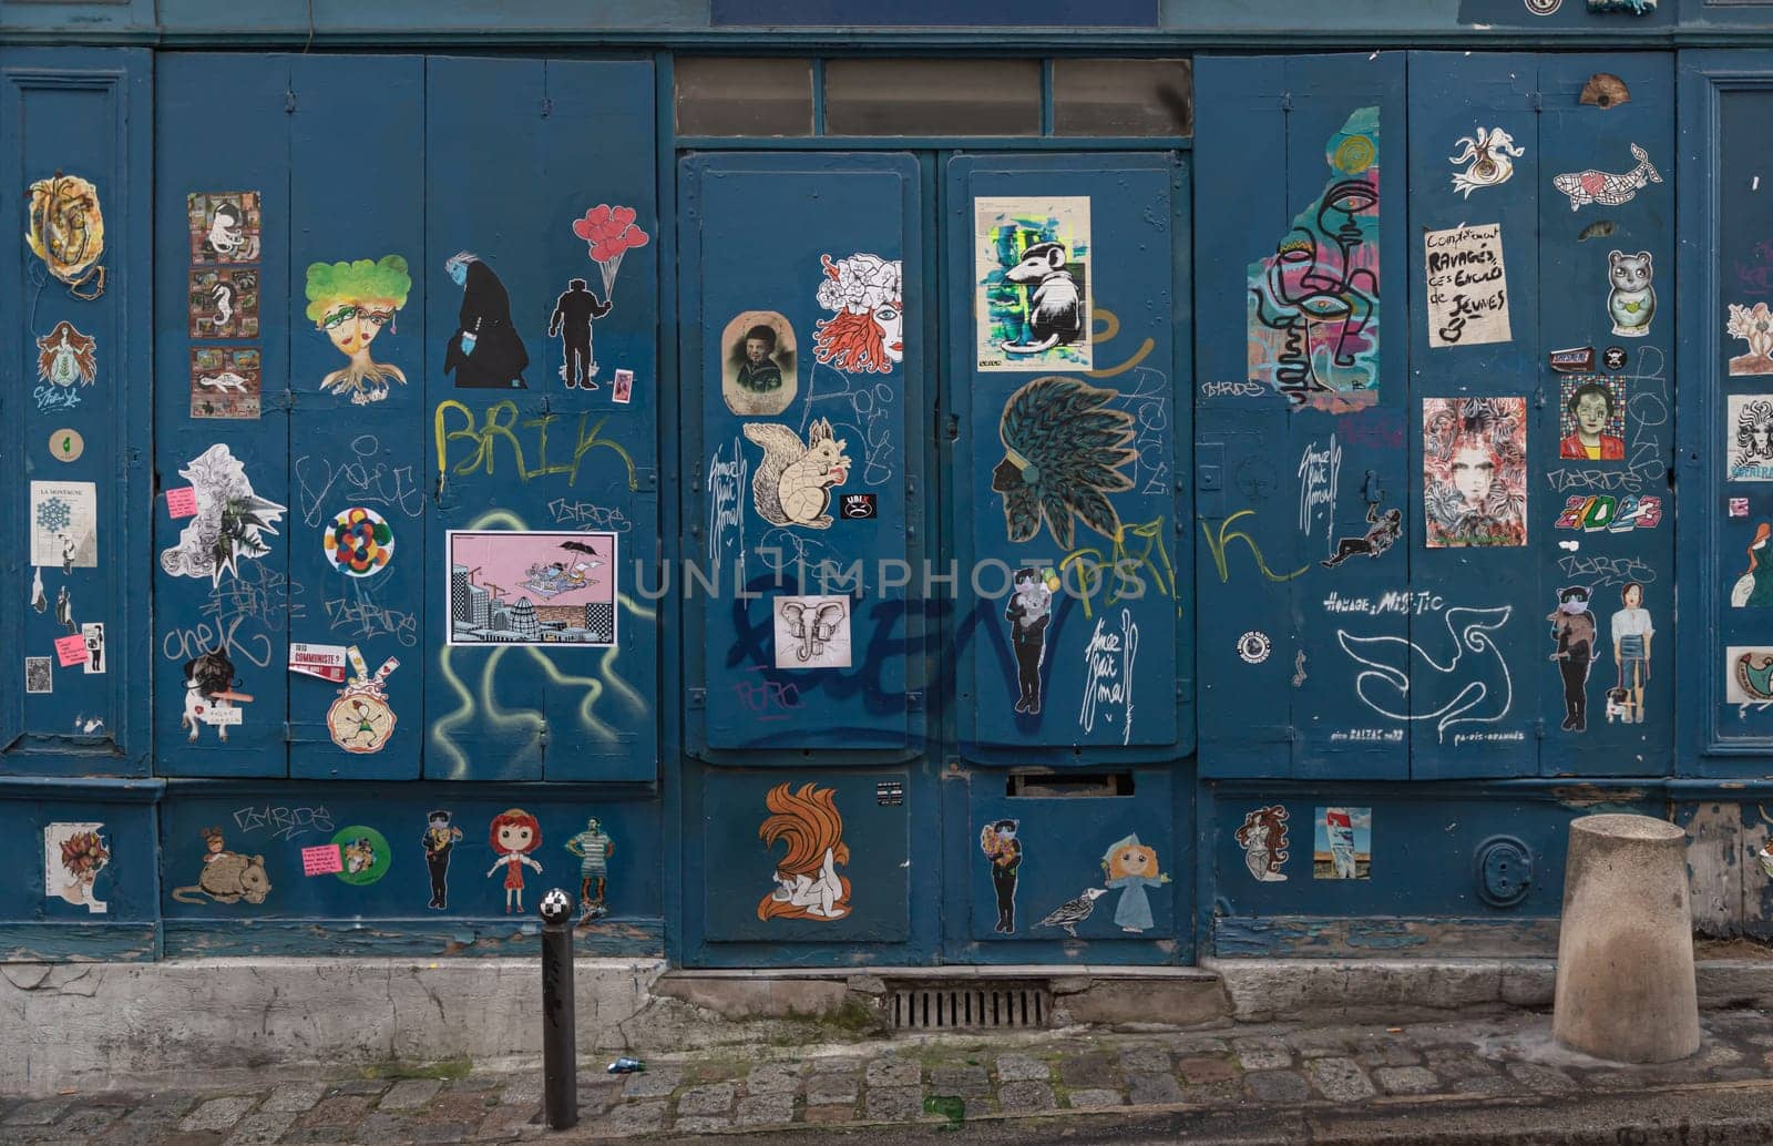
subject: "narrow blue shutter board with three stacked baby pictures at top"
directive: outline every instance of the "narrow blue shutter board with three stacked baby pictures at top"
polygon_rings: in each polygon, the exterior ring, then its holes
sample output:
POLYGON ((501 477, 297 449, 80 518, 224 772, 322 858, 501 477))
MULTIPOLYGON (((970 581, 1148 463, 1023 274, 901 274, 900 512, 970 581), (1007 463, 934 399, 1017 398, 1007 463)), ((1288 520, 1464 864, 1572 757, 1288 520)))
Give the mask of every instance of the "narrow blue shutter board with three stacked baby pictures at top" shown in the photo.
MULTIPOLYGON (((289 754, 284 720, 289 711, 289 623, 293 598, 291 546, 319 546, 316 532, 289 511, 289 57, 168 53, 160 59, 156 122, 156 250, 154 326, 154 456, 163 490, 199 490, 199 513, 174 518, 167 500, 154 506, 154 768, 161 775, 285 775, 289 754), (216 92, 227 92, 218 99, 216 92), (188 131, 191 115, 207 117, 206 131, 188 131), (227 140, 216 145, 216 140, 227 140), (239 277, 255 273, 259 325, 255 337, 191 337, 193 289, 213 298, 202 275, 215 266, 193 250, 191 195, 259 200, 259 250, 230 264, 239 277), (199 263, 197 259, 204 259, 199 263), (195 280, 195 284, 193 284, 195 280), (213 358, 199 358, 206 351, 213 358), (254 362, 245 355, 257 351, 254 362), (236 374, 229 390, 211 381, 236 374), (232 401, 250 397, 257 403, 232 401), (238 392, 236 392, 238 387, 238 392), (197 467, 200 458, 207 463, 197 467), (218 495, 246 493, 271 502, 259 507, 268 530, 261 555, 243 553, 230 568, 207 555, 206 538, 220 536, 218 495), (211 656, 199 688, 186 687, 186 669, 211 656), (238 724, 209 724, 216 708, 206 695, 220 685, 250 701, 232 701, 238 724), (183 717, 191 715, 190 720, 183 717), (222 736, 227 740, 222 740, 222 736)), ((245 208, 246 204, 241 202, 245 208)), ((199 211, 209 213, 204 200, 199 211)), ((250 211, 246 211, 250 216, 250 211)), ((245 231, 252 222, 243 216, 245 231)), ((202 222, 202 220, 200 220, 202 222)), ((241 291, 245 294, 245 291, 241 291)), ((303 390, 309 387, 303 385, 303 390)), ((229 717, 218 717, 227 720, 229 717)))

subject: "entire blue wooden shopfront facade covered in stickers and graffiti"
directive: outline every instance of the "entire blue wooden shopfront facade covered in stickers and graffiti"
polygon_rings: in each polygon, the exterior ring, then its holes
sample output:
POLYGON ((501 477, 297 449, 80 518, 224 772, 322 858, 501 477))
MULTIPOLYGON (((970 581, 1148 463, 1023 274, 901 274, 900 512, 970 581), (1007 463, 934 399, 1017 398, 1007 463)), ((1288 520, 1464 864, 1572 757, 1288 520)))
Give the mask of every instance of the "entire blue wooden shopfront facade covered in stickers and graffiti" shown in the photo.
POLYGON ((1594 809, 1773 930, 1769 5, 254 7, 0 0, 0 958, 1544 954, 1594 809))

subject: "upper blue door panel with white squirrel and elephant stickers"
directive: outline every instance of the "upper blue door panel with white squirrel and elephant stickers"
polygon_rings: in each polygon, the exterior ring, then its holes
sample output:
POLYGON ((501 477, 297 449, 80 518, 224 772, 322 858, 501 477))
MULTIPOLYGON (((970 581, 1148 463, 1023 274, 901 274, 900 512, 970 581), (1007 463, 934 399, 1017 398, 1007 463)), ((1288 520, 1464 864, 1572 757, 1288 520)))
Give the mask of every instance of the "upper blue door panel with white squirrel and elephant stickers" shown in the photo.
POLYGON ((715 584, 684 582, 690 750, 915 754, 917 160, 706 154, 681 176, 686 408, 700 408, 684 571, 715 584))

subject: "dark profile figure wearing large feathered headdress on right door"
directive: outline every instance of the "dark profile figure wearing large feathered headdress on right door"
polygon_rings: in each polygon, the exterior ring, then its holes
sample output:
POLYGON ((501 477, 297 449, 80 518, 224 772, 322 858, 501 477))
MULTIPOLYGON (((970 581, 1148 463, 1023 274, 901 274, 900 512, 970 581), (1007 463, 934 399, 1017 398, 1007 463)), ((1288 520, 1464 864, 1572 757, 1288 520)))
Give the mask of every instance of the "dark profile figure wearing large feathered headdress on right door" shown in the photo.
POLYGON ((1133 488, 1121 467, 1133 461, 1133 417, 1110 410, 1119 397, 1074 378, 1035 378, 1004 403, 998 436, 1004 461, 991 470, 991 490, 1004 495, 1011 541, 1041 532, 1041 518, 1060 548, 1071 548, 1071 518, 1105 538, 1121 532, 1121 514, 1108 493, 1133 488))

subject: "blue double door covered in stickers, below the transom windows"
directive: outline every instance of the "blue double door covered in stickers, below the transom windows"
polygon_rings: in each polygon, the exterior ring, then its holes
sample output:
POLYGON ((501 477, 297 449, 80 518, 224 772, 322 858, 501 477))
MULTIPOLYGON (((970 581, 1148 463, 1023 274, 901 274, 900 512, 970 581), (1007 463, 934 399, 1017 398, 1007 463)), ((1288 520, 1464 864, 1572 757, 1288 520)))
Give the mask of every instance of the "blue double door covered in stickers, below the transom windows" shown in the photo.
POLYGON ((681 958, 1188 958, 1183 158, 709 153, 679 208, 681 958))

